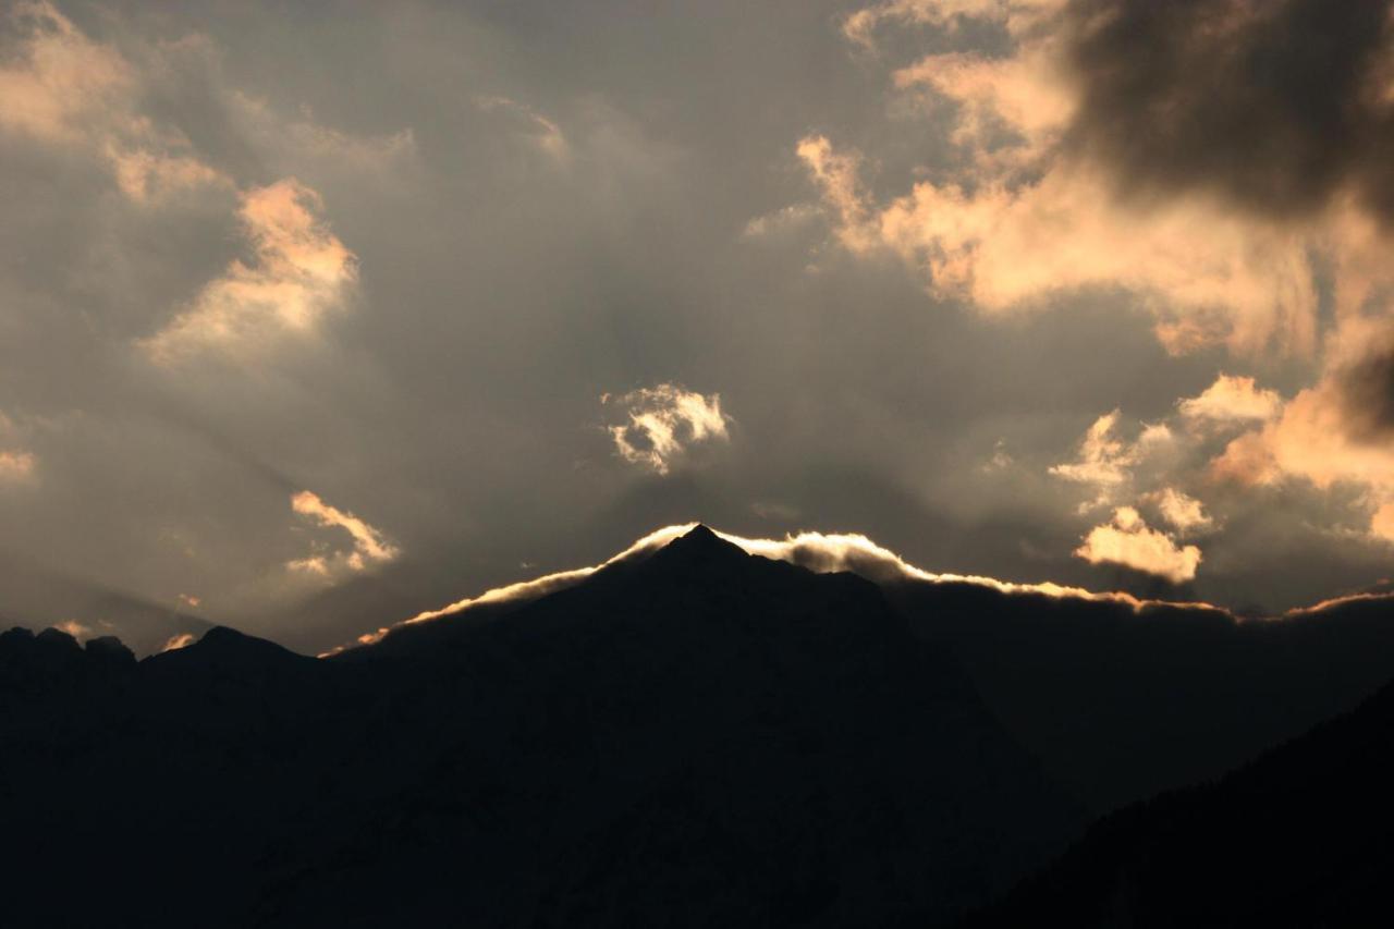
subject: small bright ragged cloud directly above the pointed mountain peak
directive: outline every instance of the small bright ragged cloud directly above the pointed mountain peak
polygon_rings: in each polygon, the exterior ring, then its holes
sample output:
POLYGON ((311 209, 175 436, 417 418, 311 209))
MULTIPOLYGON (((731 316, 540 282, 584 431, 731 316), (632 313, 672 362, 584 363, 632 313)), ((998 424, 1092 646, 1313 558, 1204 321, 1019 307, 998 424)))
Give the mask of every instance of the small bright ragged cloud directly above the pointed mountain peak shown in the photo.
POLYGON ((666 474, 694 445, 729 439, 719 393, 707 396, 659 384, 619 396, 606 393, 601 403, 625 413, 623 423, 605 427, 619 456, 658 474, 666 474))

